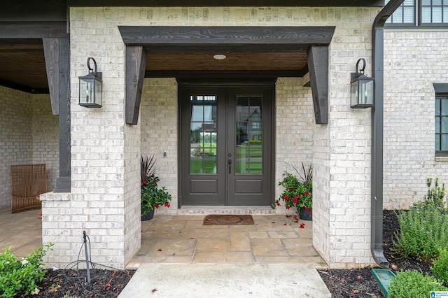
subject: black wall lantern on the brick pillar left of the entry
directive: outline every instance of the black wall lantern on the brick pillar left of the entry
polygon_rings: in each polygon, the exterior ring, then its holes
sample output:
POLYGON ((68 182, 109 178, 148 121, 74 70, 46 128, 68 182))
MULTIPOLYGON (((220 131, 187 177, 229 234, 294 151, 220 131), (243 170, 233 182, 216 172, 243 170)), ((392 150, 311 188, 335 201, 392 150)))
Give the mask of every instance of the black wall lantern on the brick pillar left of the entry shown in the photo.
POLYGON ((102 107, 102 74, 97 72, 97 62, 92 57, 87 59, 89 74, 79 77, 79 105, 87 108, 102 107), (93 61, 94 68, 90 66, 93 61))

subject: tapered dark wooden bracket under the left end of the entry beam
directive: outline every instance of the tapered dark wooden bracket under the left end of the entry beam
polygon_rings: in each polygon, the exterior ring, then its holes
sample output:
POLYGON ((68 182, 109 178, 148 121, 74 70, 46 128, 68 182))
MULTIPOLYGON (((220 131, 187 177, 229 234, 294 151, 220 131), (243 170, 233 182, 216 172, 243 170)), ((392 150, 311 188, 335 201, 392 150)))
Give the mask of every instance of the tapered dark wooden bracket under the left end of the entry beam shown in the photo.
POLYGON ((126 123, 130 125, 137 125, 139 121, 145 66, 145 48, 142 45, 126 45, 126 123))

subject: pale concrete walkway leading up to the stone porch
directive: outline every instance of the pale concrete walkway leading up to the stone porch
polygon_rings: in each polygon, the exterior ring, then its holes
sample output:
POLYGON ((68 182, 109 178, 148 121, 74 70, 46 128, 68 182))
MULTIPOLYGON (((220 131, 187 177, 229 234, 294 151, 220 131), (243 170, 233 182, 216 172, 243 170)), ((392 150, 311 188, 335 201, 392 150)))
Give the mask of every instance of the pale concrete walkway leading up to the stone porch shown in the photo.
POLYGON ((141 264, 118 296, 331 297, 311 264, 141 264))

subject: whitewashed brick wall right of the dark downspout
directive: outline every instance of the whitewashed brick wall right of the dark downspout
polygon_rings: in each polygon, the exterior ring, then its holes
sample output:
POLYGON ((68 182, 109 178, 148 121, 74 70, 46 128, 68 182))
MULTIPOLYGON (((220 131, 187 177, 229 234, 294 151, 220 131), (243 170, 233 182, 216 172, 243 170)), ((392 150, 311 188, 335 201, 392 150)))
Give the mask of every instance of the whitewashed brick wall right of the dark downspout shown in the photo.
POLYGON ((426 178, 448 183, 448 157, 435 157, 435 90, 448 83, 448 31, 384 34, 384 206, 423 199, 426 178))

